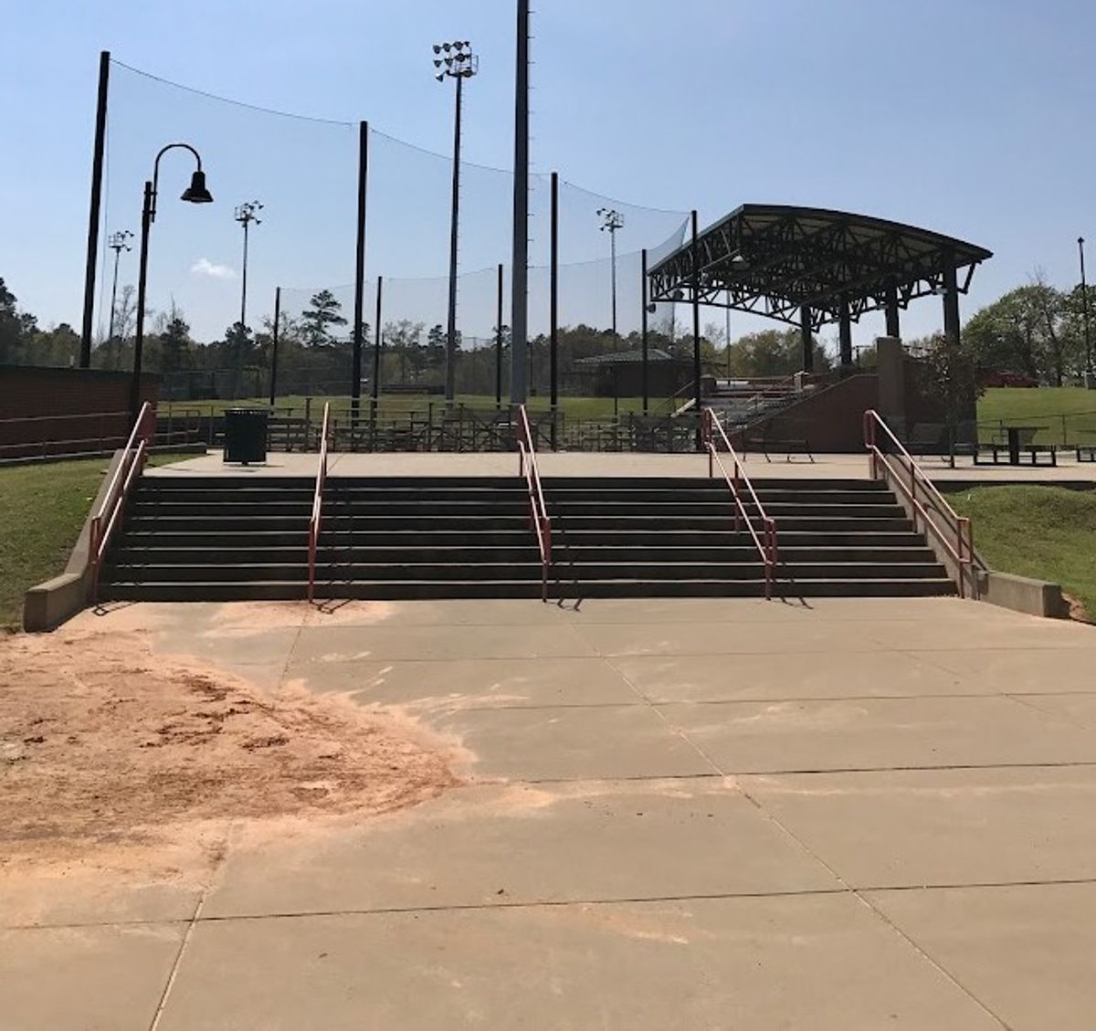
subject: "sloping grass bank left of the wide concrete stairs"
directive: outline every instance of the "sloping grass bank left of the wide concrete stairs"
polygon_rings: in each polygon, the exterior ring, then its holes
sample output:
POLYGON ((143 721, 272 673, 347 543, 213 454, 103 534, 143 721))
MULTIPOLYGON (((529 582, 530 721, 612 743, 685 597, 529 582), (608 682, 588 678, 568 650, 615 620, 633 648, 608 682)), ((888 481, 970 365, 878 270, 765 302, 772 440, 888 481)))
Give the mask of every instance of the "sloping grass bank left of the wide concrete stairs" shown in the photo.
POLYGON ((109 466, 82 458, 0 468, 0 632, 22 626, 28 587, 64 572, 109 466))

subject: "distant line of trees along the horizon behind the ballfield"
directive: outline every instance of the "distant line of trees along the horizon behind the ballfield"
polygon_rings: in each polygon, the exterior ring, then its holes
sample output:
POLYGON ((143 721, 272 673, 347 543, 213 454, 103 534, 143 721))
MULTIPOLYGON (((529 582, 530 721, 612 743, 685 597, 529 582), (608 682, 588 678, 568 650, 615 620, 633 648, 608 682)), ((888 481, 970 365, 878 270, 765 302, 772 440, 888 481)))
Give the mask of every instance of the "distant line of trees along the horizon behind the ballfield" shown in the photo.
MULTIPOLYGON (((1089 287, 1089 303, 1096 308, 1096 287, 1089 287)), ((135 290, 124 286, 114 307, 113 332, 95 342, 92 365, 125 370, 132 367, 136 323, 135 290)), ((145 334, 142 364, 165 378, 165 397, 254 396, 256 385, 266 389, 274 323, 264 318, 260 327, 239 322, 227 327, 217 340, 194 339, 191 325, 173 301, 167 310, 152 312, 145 334)), ((492 328, 492 334, 500 328, 492 328)), ((362 325, 368 354, 363 375, 372 375, 373 328, 362 325)), ((279 393, 350 392, 351 337, 353 333, 342 305, 330 290, 318 290, 298 314, 283 312, 278 324, 279 393)), ((509 366, 510 329, 501 328, 504 367, 509 366)), ((438 389, 445 367, 446 333, 441 324, 402 319, 383 327, 381 382, 423 390, 438 389)), ((578 324, 558 332, 558 367, 573 381, 563 389, 581 387, 578 374, 582 358, 609 351, 638 354, 639 332, 614 339, 607 329, 578 324)), ((681 331, 672 314, 653 320, 649 346, 682 359, 692 358, 693 339, 681 331)), ((493 340, 469 342, 458 334, 457 390, 492 393, 494 390, 493 340)), ((916 343, 916 342, 911 342, 916 343)), ((529 341, 533 388, 547 391, 549 340, 538 334, 529 341)), ((728 341, 715 323, 700 336, 701 360, 717 376, 788 376, 802 367, 799 330, 770 329, 728 341)), ((979 373, 1021 373, 1039 382, 1063 386, 1084 373, 1087 352, 1084 339, 1084 303, 1081 287, 1059 290, 1036 276, 1031 283, 1009 290, 973 314, 963 327, 962 352, 979 373)), ((16 298, 0 278, 0 364, 75 366, 79 362, 80 336, 66 322, 42 329, 37 319, 21 310, 16 298)), ((870 350, 864 355, 870 364, 870 350)), ((829 352, 815 346, 815 367, 832 365, 829 352)))

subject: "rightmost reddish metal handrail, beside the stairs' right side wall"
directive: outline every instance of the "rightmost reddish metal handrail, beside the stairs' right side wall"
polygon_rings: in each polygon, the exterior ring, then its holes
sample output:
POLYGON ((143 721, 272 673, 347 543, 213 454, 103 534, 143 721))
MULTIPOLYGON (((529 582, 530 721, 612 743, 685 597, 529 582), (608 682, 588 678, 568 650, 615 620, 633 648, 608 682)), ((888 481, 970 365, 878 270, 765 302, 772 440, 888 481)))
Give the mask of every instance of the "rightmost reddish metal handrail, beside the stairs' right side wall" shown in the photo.
POLYGON ((920 519, 925 532, 932 534, 956 563, 959 597, 966 597, 969 589, 970 596, 977 599, 979 583, 974 565, 978 560, 970 519, 959 515, 945 501, 944 495, 875 409, 868 409, 864 413, 864 446, 868 449, 871 479, 884 479, 881 472, 887 471, 886 480, 892 482, 910 503, 914 530, 917 529, 920 519), (895 468, 890 460, 891 456, 880 449, 880 429, 883 440, 889 442, 893 448, 892 456, 902 463, 901 468, 895 468), (945 525, 940 526, 938 519, 945 525))

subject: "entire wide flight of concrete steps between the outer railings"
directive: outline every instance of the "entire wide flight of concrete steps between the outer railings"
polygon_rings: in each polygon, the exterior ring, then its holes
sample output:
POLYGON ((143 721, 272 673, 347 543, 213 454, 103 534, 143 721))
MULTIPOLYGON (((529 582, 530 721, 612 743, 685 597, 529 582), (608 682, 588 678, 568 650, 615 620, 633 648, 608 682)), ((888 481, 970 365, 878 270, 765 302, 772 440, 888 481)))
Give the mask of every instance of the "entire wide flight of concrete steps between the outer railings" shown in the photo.
MULTIPOLYGON (((764 594, 764 566, 722 480, 545 478, 553 597, 764 594)), ((955 593, 882 485, 754 483, 776 518, 785 596, 955 593)), ((142 477, 100 597, 302 598, 313 481, 142 477)), ((331 477, 319 598, 539 597, 540 558, 517 477, 331 477)))

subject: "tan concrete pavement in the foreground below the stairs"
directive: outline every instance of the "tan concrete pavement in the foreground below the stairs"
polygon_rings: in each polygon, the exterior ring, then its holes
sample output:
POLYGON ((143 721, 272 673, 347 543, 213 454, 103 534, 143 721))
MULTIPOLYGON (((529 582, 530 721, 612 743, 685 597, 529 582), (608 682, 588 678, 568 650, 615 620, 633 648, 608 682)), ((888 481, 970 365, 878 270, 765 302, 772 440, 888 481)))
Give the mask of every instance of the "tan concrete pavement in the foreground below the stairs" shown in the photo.
POLYGON ((1093 1026, 1093 628, 957 599, 281 610, 80 622, 397 707, 467 782, 236 828, 194 891, 24 884, 5 1031, 1093 1026))

